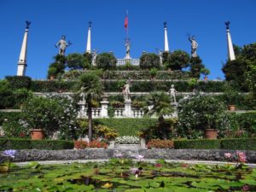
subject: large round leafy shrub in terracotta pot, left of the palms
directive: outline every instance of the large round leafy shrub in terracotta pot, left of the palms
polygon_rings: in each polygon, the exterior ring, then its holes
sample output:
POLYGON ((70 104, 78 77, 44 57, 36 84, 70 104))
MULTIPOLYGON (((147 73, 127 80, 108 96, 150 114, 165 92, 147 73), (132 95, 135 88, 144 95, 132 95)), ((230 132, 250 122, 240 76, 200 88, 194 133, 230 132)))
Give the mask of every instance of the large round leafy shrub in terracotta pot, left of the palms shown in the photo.
POLYGON ((60 109, 55 100, 45 97, 32 97, 22 106, 22 120, 31 129, 32 139, 44 138, 45 131, 54 131, 58 125, 56 115, 60 109))

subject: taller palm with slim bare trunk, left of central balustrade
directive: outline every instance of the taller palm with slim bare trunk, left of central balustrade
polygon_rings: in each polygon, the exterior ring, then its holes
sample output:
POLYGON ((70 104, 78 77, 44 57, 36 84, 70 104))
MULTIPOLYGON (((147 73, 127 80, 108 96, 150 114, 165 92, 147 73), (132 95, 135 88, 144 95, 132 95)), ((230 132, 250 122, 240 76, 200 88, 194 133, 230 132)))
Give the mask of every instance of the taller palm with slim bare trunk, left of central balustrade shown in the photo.
POLYGON ((92 139, 92 100, 102 96, 102 83, 96 73, 84 73, 79 78, 80 93, 84 93, 87 102, 88 137, 92 139))

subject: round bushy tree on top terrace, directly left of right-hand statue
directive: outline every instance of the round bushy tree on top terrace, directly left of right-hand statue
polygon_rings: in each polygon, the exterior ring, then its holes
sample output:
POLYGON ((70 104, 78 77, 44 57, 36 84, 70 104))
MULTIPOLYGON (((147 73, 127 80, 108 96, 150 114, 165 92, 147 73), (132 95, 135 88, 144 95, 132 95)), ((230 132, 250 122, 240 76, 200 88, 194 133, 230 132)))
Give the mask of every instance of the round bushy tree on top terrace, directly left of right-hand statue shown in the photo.
POLYGON ((182 70, 189 67, 189 54, 183 50, 176 50, 173 53, 164 52, 163 63, 166 68, 182 70))

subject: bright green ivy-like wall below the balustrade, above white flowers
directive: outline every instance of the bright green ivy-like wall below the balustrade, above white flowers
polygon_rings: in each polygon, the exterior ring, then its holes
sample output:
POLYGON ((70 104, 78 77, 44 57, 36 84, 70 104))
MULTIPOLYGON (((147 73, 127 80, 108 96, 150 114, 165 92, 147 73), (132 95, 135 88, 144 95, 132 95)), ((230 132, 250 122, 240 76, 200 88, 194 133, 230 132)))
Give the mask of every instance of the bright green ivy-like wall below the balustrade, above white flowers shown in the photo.
POLYGON ((119 133, 119 136, 137 136, 137 131, 157 124, 157 119, 93 119, 94 124, 106 125, 119 133))

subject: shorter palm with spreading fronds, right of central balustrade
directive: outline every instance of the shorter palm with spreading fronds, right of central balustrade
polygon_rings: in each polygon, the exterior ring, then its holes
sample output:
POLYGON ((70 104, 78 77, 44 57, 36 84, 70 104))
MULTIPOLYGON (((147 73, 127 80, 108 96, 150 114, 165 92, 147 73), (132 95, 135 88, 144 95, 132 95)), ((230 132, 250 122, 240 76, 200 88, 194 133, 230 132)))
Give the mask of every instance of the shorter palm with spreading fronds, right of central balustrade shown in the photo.
POLYGON ((170 96, 165 92, 152 92, 146 99, 145 114, 158 117, 158 137, 166 139, 166 127, 164 115, 171 114, 174 108, 171 105, 170 96))

